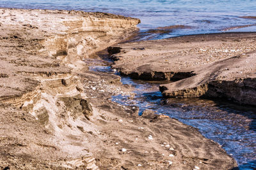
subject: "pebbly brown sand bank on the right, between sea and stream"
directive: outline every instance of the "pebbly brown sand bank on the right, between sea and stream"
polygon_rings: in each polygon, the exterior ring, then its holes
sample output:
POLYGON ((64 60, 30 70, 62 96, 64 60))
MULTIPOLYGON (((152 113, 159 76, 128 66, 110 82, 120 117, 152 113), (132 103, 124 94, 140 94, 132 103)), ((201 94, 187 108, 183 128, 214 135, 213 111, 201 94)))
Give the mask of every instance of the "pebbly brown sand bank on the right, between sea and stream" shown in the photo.
POLYGON ((166 97, 226 97, 256 105, 255 33, 184 36, 124 43, 113 49, 117 48, 113 67, 122 74, 176 81, 161 85, 166 97))

